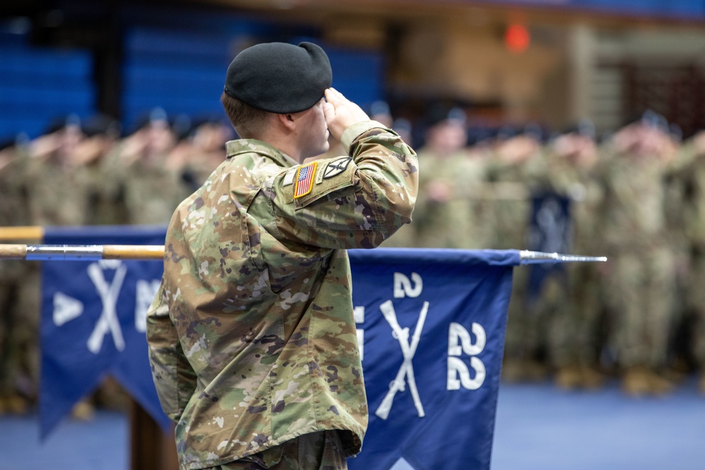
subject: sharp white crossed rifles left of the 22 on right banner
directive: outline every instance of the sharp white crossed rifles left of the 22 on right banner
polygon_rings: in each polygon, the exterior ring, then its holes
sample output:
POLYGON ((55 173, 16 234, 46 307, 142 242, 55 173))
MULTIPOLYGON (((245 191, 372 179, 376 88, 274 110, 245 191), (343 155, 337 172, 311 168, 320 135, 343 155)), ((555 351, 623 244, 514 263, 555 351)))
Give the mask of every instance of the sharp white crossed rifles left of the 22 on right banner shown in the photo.
POLYGON ((392 327, 392 336, 398 340, 404 360, 399 368, 396 378, 389 384, 389 390, 374 414, 379 416, 381 419, 387 419, 394 402, 394 395, 396 395, 397 392, 403 392, 405 390, 406 381, 406 383, 409 384, 409 390, 411 392, 412 399, 414 400, 414 405, 417 413, 419 414, 419 418, 422 418, 426 416, 426 413, 424 412, 424 406, 421 402, 421 398, 419 397, 419 390, 416 388, 414 366, 411 361, 414 359, 414 354, 416 354, 416 349, 419 345, 421 331, 424 328, 426 315, 429 311, 429 302, 424 302, 424 307, 419 314, 419 320, 416 323, 411 344, 409 344, 409 328, 401 328, 399 326, 392 301, 387 300, 379 306, 379 309, 381 310, 382 315, 384 315, 386 321, 392 327))

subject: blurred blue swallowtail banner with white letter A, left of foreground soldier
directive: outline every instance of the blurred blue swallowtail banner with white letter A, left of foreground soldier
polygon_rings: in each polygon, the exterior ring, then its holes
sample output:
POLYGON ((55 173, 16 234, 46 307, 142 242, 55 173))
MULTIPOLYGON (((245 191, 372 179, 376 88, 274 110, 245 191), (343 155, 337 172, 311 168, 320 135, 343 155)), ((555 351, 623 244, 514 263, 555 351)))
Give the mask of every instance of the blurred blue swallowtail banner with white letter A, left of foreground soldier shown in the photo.
MULTIPOLYGON (((47 228, 47 245, 164 245, 159 228, 47 228)), ((145 318, 161 260, 44 261, 40 434, 46 437, 106 374, 162 426, 147 357, 145 318)))

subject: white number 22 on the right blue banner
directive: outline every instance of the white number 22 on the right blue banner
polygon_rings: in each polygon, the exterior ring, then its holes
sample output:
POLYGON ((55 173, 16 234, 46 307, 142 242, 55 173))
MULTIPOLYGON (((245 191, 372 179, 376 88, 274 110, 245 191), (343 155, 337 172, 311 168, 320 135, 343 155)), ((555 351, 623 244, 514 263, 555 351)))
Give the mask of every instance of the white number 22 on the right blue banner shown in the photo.
POLYGON ((460 385, 467 390, 477 390, 484 383, 485 366, 476 356, 484 350, 487 337, 479 323, 472 323, 472 333, 477 338, 474 344, 470 339, 470 333, 460 323, 452 322, 448 327, 447 390, 460 390, 460 385), (470 378, 470 371, 459 357, 463 352, 471 356, 470 367, 475 371, 474 378, 470 378))

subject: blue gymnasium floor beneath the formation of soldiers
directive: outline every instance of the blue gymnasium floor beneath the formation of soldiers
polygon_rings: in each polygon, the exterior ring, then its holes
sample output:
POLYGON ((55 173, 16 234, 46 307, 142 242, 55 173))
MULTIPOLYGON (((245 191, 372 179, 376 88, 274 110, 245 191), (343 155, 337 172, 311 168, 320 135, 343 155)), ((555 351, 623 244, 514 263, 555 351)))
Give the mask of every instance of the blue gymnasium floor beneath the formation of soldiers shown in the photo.
MULTIPOLYGON (((0 416, 0 470, 128 470, 129 432, 123 414, 99 412, 64 421, 40 445, 35 415, 0 416)), ((666 397, 639 399, 616 383, 597 392, 503 384, 491 468, 702 470, 705 397, 694 378, 666 397)))

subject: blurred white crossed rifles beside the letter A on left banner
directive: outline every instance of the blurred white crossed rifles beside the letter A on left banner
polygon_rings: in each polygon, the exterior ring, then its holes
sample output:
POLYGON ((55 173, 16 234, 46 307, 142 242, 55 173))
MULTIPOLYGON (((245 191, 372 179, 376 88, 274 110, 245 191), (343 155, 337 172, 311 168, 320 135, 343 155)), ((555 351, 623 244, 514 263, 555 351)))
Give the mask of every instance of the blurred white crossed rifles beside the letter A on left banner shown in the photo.
POLYGON ((88 277, 93 281, 103 304, 103 311, 100 314, 98 323, 96 323, 87 341, 88 350, 93 354, 100 352, 103 347, 103 338, 108 332, 113 336, 116 349, 118 351, 125 350, 123 331, 120 328, 117 316, 117 305, 118 295, 120 295, 127 271, 122 261, 119 260, 103 260, 88 266, 88 277), (105 268, 116 270, 110 284, 107 283, 105 276, 103 276, 105 268))

